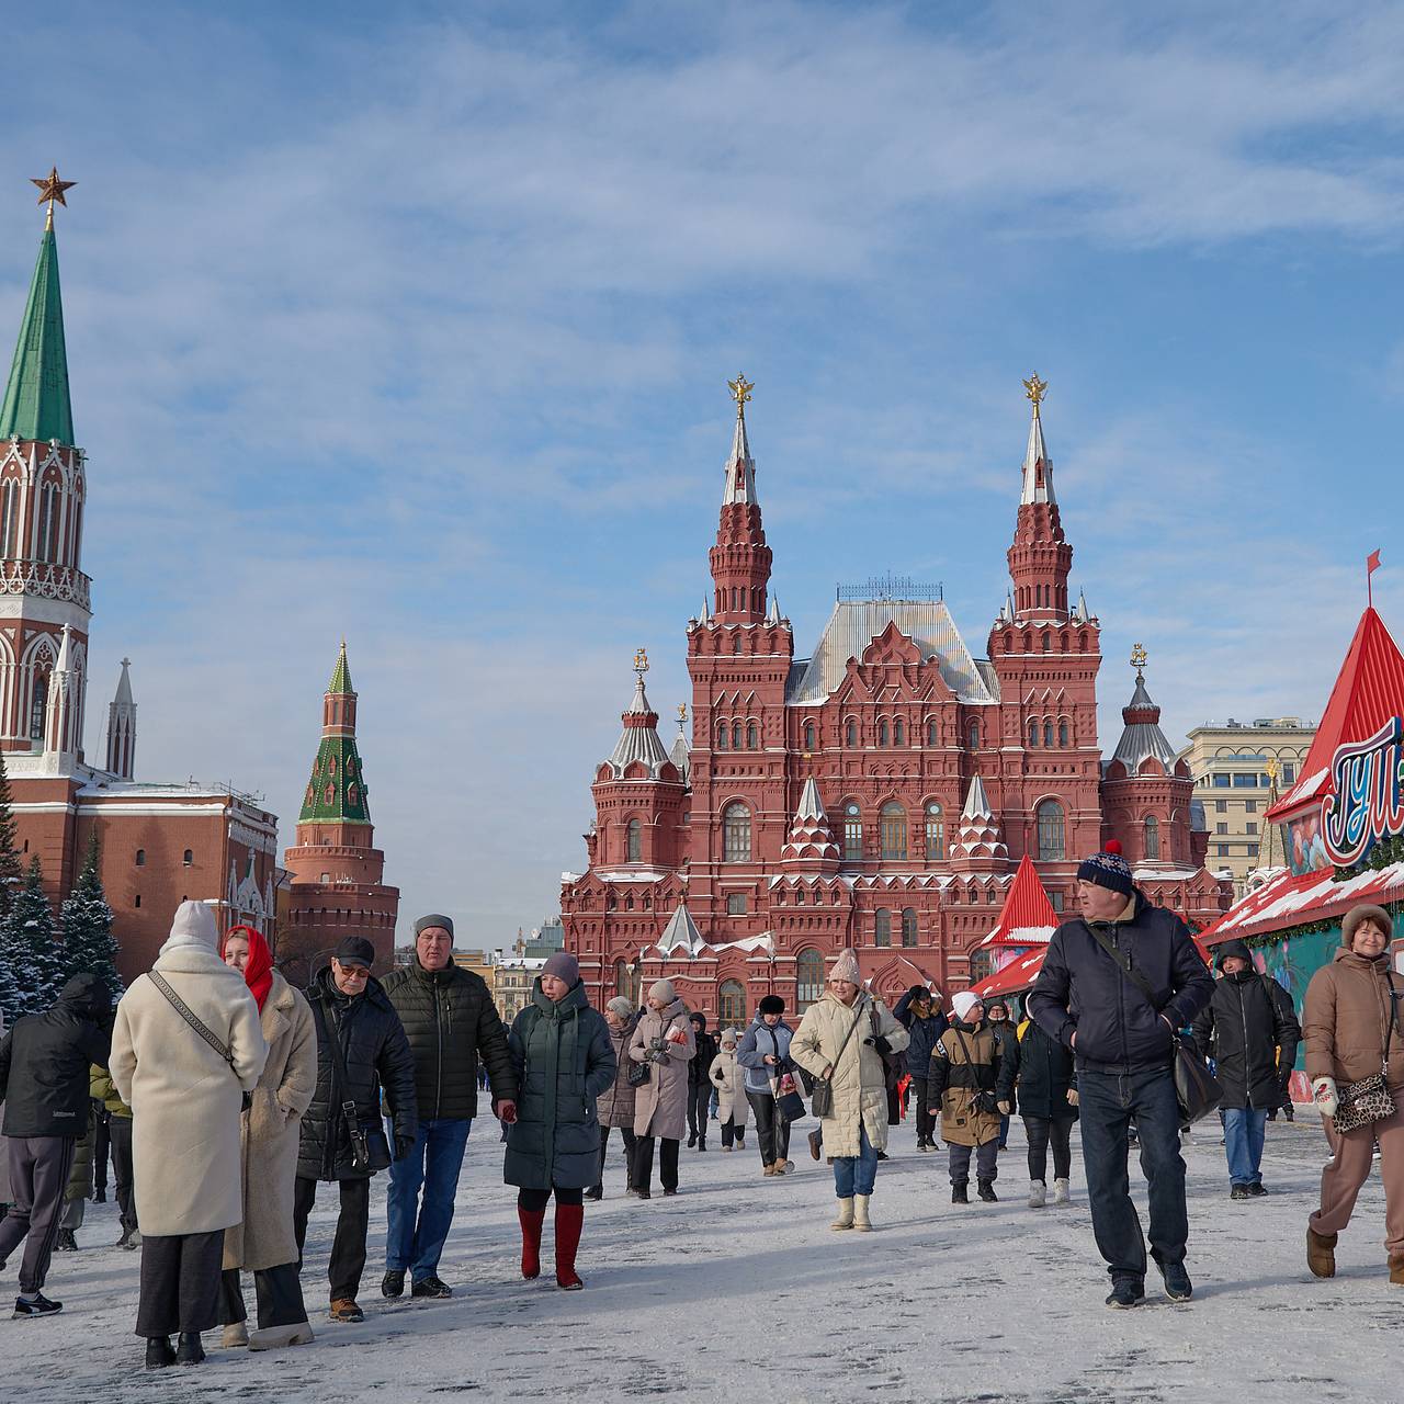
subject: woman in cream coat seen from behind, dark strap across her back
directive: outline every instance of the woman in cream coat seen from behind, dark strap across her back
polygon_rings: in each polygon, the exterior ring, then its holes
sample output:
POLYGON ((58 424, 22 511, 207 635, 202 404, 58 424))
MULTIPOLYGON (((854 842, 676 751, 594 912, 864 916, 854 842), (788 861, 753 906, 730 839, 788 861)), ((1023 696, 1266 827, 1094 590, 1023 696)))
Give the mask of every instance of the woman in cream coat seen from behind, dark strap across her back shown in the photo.
POLYGON ((132 1108, 142 1297, 136 1334, 150 1367, 198 1363, 199 1332, 219 1320, 225 1230, 244 1217, 240 1112, 268 1057, 258 1005, 219 959, 215 914, 183 901, 156 958, 160 976, 229 1049, 216 1052, 150 976, 122 995, 110 1070, 132 1108), (180 1332, 180 1352, 170 1337, 180 1332))

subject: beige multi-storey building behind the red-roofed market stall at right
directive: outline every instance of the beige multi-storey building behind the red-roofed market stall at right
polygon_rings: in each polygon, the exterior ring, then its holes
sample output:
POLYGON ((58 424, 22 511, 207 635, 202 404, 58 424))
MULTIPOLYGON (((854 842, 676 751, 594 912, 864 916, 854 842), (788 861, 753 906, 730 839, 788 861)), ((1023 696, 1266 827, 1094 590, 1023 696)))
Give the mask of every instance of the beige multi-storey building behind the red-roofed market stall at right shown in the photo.
POLYGON ((1205 866, 1233 879, 1236 901, 1248 890, 1251 872, 1285 861, 1282 838, 1268 833, 1264 814, 1297 782, 1314 737, 1314 723, 1297 716, 1230 717, 1196 726, 1179 753, 1195 778, 1195 799, 1205 806, 1205 866))

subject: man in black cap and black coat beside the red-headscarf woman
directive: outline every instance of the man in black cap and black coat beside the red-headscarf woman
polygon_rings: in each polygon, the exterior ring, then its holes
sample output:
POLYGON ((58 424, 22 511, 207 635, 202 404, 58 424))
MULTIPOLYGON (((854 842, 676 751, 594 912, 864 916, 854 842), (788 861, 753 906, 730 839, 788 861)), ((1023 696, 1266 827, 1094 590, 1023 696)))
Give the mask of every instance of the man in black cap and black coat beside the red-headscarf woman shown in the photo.
POLYGON ((365 1271, 371 1177, 392 1160, 409 1155, 418 1130, 414 1057, 395 1005, 371 974, 375 946, 365 936, 347 936, 337 946, 331 966, 319 970, 307 986, 317 1028, 317 1090, 302 1118, 293 1227, 300 1254, 307 1241, 307 1216, 317 1200, 317 1181, 337 1181, 341 1214, 327 1264, 333 1321, 365 1320, 355 1297, 365 1271), (393 1150, 380 1120, 382 1090, 390 1109, 393 1150), (355 1104, 354 1140, 344 1111, 348 1102, 355 1104))

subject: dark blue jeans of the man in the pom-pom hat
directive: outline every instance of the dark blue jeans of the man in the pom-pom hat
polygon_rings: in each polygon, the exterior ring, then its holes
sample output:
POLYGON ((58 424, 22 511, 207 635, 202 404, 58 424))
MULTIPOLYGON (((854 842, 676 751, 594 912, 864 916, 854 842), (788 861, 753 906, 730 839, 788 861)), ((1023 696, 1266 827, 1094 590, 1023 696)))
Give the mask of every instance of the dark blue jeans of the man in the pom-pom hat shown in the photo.
POLYGON ((1150 1188, 1151 1254, 1160 1262, 1184 1262, 1189 1216, 1174 1074, 1168 1067, 1126 1074, 1078 1068, 1077 1091, 1092 1233, 1112 1280, 1146 1276, 1146 1240, 1126 1167, 1133 1116, 1150 1188))

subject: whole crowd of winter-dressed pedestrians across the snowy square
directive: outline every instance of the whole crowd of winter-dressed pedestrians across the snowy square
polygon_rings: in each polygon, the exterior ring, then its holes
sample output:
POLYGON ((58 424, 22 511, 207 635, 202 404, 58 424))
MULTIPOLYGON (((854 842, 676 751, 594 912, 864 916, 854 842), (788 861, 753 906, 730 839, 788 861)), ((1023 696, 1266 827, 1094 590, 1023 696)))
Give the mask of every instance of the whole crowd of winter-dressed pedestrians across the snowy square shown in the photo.
POLYGON ((1404 1285, 1404 981, 1390 969, 1389 913, 1358 907, 1345 918, 1299 1026, 1290 997, 1241 942, 1217 948, 1214 980, 1185 924, 1147 901, 1119 854, 1080 865, 1078 906, 1053 934, 1019 1022, 969 990, 946 1012, 936 991, 914 986, 889 1009, 844 951, 797 1025, 769 994, 744 1031, 713 1033, 668 980, 642 1008, 614 998, 597 1011, 569 952, 545 962, 508 1029, 483 980, 453 963, 453 922, 439 914, 416 922, 410 962, 383 981, 371 973, 371 943, 347 936, 303 993, 260 932, 234 927, 220 941, 211 907, 183 903, 153 969, 115 1011, 101 979, 76 976, 49 1011, 0 1040, 0 1268, 20 1255, 15 1316, 62 1310, 44 1292, 51 1258, 76 1227, 73 1184, 81 1205, 105 1182, 100 1148, 112 1163, 119 1245, 140 1250, 135 1331, 160 1369, 198 1365, 202 1335, 216 1328, 225 1346, 253 1351, 313 1339, 303 1254, 319 1185, 334 1184, 338 1200, 330 1321, 364 1318, 371 1181, 382 1171, 382 1294, 451 1296, 439 1262, 484 1090, 504 1133, 504 1182, 517 1189, 521 1276, 542 1273, 555 1202, 555 1282, 580 1290, 584 1202, 607 1193, 614 1132, 625 1193, 649 1199, 656 1164, 661 1193, 680 1192, 682 1137, 706 1151, 713 1119, 722 1151, 743 1150, 754 1123, 762 1175, 792 1172, 790 1126, 812 1111, 810 1155, 834 1179, 830 1228, 869 1233, 904 1080, 918 1151, 945 1148, 958 1206, 972 1203, 972 1174, 976 1200, 998 1202, 1015 1115, 1028 1206, 1049 1203, 1050 1154, 1052 1202, 1067 1203, 1080 1122, 1108 1306, 1140 1303, 1151 1265, 1182 1302, 1193 1285, 1177 1060, 1214 1070, 1228 1195, 1257 1199, 1269 1192, 1265 1123, 1287 1099, 1303 1038, 1332 1151, 1307 1264, 1334 1273, 1337 1237, 1377 1154, 1389 1276, 1404 1285), (1130 1198, 1133 1143, 1148 1186, 1144 1233, 1130 1198))

